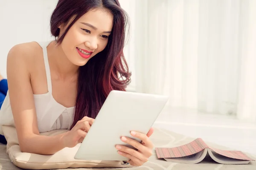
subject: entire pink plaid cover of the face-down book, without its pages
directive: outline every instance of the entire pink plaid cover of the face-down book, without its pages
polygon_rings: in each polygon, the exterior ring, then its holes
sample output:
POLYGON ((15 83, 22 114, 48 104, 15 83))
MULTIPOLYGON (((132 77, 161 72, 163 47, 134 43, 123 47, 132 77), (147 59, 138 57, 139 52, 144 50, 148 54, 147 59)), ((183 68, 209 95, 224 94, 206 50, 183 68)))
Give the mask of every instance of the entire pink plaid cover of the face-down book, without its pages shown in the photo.
POLYGON ((179 147, 156 147, 156 153, 158 158, 179 158, 193 155, 204 150, 205 148, 209 148, 216 153, 229 158, 253 161, 253 159, 250 159, 241 151, 219 150, 213 147, 209 147, 201 138, 195 139, 194 141, 179 147))

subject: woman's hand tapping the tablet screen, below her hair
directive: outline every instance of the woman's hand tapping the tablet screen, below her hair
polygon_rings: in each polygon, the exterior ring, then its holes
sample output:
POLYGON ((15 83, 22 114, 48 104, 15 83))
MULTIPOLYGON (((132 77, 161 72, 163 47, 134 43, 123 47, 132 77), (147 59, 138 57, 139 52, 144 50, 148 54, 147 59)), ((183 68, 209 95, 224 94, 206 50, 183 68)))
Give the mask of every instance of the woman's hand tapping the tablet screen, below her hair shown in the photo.
POLYGON ((81 143, 90 130, 91 125, 93 125, 93 122, 94 119, 87 116, 79 120, 70 131, 64 134, 62 138, 64 146, 75 147, 78 143, 81 143))

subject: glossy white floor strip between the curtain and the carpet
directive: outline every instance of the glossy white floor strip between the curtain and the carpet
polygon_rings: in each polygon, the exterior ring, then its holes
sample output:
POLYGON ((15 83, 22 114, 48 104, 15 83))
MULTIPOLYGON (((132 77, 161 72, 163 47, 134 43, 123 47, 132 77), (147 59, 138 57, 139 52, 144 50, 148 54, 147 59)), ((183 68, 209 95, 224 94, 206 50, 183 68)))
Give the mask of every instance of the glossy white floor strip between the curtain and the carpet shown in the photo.
POLYGON ((164 109, 154 125, 256 155, 256 123, 193 110, 164 109))

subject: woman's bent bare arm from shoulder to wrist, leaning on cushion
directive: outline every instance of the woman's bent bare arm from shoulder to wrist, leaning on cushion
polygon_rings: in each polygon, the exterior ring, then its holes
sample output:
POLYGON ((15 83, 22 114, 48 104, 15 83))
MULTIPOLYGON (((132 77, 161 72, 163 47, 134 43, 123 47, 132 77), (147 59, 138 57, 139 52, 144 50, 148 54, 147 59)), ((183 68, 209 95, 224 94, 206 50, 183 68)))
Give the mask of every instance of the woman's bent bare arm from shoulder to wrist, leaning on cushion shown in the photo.
POLYGON ((7 78, 12 113, 20 150, 43 155, 53 154, 65 147, 63 136, 40 136, 33 92, 30 84, 29 64, 31 52, 25 44, 14 46, 7 57, 7 78))

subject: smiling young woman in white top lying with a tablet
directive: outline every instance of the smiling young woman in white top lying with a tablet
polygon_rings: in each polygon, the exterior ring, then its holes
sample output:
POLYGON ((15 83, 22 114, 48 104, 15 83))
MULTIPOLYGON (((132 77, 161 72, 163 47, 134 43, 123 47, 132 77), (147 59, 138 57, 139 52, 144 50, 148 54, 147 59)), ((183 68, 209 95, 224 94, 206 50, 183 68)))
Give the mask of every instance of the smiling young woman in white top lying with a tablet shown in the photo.
MULTIPOLYGON (((44 155, 81 142, 109 92, 125 91, 130 82, 123 55, 126 23, 118 0, 59 0, 50 20, 55 40, 9 51, 0 134, 1 125, 15 125, 21 151, 44 155), (70 131, 39 135, 55 129, 70 131)), ((142 144, 122 137, 137 150, 116 150, 131 165, 142 165, 151 156, 152 133, 131 132, 142 144)))

